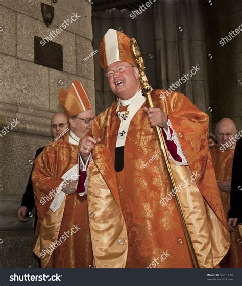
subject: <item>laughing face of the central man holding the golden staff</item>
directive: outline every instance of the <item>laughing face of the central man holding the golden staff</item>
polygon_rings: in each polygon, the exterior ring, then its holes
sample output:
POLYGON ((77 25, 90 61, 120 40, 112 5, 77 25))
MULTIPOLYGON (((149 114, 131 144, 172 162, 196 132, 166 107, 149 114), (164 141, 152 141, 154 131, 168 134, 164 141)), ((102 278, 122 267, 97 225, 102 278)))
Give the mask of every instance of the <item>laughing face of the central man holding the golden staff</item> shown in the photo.
POLYGON ((107 72, 119 66, 125 66, 125 70, 122 73, 115 71, 114 75, 108 78, 108 82, 117 97, 127 100, 132 98, 139 89, 139 70, 137 67, 132 67, 130 63, 120 61, 110 64, 107 72))

